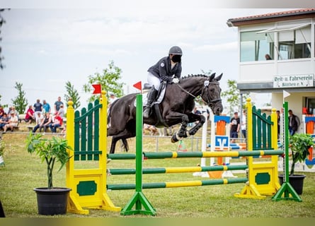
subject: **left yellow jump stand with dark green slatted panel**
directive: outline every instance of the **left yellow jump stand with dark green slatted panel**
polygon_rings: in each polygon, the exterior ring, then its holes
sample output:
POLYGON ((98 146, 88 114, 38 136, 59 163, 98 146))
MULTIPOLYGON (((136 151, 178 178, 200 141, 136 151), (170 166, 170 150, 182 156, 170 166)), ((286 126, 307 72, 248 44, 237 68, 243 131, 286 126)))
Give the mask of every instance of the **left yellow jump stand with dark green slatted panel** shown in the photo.
POLYGON ((107 98, 102 91, 100 101, 88 109, 74 112, 73 102, 67 108, 67 140, 74 151, 67 162, 67 187, 71 189, 67 211, 88 214, 84 208, 120 211, 106 191, 107 98), (98 162, 95 169, 79 169, 79 162, 98 162))

